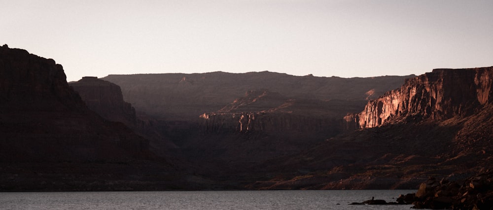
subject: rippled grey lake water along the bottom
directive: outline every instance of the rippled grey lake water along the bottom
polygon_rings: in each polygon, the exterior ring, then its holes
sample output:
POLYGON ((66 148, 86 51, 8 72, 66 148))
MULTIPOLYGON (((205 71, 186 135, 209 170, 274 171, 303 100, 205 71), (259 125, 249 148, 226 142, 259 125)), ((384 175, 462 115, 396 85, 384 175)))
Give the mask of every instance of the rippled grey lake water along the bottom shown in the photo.
POLYGON ((2 210, 409 210, 412 205, 348 205, 375 199, 395 202, 416 190, 0 192, 2 210))

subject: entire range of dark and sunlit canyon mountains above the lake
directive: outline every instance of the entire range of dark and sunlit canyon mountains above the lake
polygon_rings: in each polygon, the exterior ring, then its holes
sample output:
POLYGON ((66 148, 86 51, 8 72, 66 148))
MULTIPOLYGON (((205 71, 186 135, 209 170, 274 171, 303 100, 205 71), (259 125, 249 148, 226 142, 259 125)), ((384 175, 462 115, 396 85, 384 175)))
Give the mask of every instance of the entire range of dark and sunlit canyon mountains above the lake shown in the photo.
POLYGON ((493 67, 482 67, 68 84, 54 60, 4 45, 0 191, 389 189, 418 188, 429 176, 474 179, 493 170, 492 80, 493 67))

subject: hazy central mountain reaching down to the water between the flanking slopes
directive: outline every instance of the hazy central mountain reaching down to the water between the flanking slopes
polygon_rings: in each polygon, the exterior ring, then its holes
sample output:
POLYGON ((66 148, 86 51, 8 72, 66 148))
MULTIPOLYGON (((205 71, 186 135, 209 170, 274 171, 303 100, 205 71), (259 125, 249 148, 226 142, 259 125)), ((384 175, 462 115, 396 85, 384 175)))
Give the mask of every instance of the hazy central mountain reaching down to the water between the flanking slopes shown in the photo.
POLYGON ((410 76, 339 78, 274 72, 138 74, 101 78, 159 122, 192 173, 243 189, 274 174, 272 159, 344 132, 343 117, 410 76), (255 167, 266 163, 268 166, 255 167), (265 171, 264 169, 273 169, 265 171))

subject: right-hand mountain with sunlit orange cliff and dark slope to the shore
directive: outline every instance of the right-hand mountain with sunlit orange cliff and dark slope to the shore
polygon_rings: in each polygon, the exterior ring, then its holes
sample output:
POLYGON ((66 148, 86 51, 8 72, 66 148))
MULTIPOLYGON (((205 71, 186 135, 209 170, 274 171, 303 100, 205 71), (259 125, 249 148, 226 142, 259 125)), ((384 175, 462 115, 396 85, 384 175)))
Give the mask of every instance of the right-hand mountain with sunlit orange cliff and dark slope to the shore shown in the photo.
POLYGON ((279 171, 254 189, 417 188, 492 170, 493 67, 436 69, 345 117, 356 128, 298 155, 258 165, 279 171))

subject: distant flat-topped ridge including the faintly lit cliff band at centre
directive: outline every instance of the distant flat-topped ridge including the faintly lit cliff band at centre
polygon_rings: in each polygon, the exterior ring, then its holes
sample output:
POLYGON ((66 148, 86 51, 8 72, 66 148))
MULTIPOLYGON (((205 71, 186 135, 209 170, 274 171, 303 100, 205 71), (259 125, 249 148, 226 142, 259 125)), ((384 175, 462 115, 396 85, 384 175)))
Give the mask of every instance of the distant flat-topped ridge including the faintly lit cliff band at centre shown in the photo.
POLYGON ((343 130, 347 113, 362 110, 368 99, 412 77, 300 77, 264 71, 109 75, 102 79, 120 86, 123 98, 138 114, 199 122, 205 132, 296 131, 334 136, 343 130))

